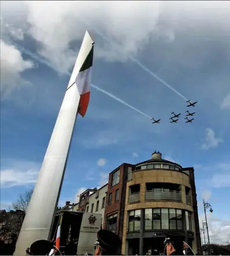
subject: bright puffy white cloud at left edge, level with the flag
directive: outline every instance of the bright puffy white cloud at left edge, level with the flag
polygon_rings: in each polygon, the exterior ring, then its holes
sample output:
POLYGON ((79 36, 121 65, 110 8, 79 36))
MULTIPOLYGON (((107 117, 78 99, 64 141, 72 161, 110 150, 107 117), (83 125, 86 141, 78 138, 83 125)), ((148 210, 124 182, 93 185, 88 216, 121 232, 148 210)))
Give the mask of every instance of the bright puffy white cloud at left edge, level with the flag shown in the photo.
POLYGON ((34 67, 30 60, 23 60, 21 53, 13 45, 1 39, 1 94, 8 96, 18 86, 30 85, 21 78, 21 73, 34 67))

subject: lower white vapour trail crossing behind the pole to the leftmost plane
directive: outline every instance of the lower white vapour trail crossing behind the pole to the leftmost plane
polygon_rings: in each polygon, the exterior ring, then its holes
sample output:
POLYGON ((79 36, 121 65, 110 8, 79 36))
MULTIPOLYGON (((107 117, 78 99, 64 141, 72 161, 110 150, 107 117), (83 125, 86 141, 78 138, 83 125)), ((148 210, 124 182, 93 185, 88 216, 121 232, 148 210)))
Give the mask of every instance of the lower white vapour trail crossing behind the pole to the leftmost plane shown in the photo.
MULTIPOLYGON (((54 66, 53 66, 49 61, 44 60, 44 58, 39 57, 38 55, 32 53, 30 50, 25 49, 24 47, 18 45, 17 43, 14 43, 14 45, 17 46, 18 50, 20 50, 21 52, 23 52, 23 53, 27 54, 28 56, 34 58, 34 60, 38 61, 39 63, 43 63, 43 64, 47 65, 48 67, 53 68, 53 69, 55 70, 54 66)), ((68 72, 68 75, 71 75, 71 73, 68 72)), ((151 119, 151 116, 145 114, 144 112, 142 112, 142 111, 140 111, 139 109, 133 107, 132 105, 129 105, 129 104, 126 103, 124 100, 121 100, 120 98, 114 96, 112 93, 109 93, 109 92, 107 92, 107 91, 104 90, 104 89, 101 89, 101 88, 98 87, 97 85, 91 84, 91 86, 92 86, 94 89, 98 90, 99 92, 104 93, 104 94, 106 94, 107 96, 109 96, 110 98, 113 98, 114 100, 120 102, 121 104, 123 104, 123 105, 125 105, 125 106, 127 106, 127 107, 129 107, 129 108, 131 108, 131 109, 133 109, 134 111, 136 111, 136 112, 138 112, 139 114, 145 116, 146 118, 150 118, 150 119, 151 119)))

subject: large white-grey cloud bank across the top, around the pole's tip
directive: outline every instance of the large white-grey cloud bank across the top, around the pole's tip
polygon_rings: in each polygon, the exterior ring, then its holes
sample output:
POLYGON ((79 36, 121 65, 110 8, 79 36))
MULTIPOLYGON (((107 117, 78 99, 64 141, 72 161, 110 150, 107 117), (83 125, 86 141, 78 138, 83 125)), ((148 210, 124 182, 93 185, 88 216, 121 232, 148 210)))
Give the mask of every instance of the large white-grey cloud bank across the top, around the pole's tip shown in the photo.
MULTIPOLYGON (((81 41, 86 28, 90 28, 86 23, 110 39, 109 45, 97 38, 96 56, 121 61, 135 57, 153 38, 172 42, 176 32, 191 28, 205 31, 211 27, 213 34, 218 31, 218 35, 228 35, 226 24, 230 19, 227 1, 91 1, 90 5, 87 1, 23 1, 17 5, 8 2, 11 1, 2 3, 4 16, 12 23, 27 22, 29 29, 24 25, 23 32, 39 42, 39 54, 62 73, 75 61, 76 50, 71 46, 81 41)), ((90 30, 94 37, 98 36, 90 30)))

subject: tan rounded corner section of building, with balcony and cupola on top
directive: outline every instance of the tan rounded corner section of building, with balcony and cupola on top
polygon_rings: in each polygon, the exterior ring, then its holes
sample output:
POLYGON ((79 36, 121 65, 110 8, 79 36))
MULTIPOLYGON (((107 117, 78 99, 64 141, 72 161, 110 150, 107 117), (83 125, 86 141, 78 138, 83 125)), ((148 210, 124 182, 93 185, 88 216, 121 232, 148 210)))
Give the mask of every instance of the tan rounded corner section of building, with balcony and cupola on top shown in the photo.
POLYGON ((150 160, 129 169, 123 254, 154 255, 154 251, 163 252, 167 232, 180 235, 198 253, 199 224, 196 231, 197 204, 192 198, 195 184, 192 187, 190 173, 192 170, 186 171, 179 164, 162 159, 159 152, 154 152, 150 160))

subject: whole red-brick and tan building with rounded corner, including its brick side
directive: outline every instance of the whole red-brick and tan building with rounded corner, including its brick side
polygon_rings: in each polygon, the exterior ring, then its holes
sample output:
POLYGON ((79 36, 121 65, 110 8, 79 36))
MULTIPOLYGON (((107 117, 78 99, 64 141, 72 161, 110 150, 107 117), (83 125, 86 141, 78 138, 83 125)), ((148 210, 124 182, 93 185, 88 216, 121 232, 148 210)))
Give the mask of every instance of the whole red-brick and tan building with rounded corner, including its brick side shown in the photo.
MULTIPOLYGON (((183 168, 154 152, 144 162, 118 166, 102 188, 101 200, 106 196, 101 209, 103 228, 120 236, 122 254, 164 251, 165 232, 170 231, 201 255, 193 167, 183 168)), ((88 211, 89 202, 97 204, 98 199, 92 195, 100 193, 100 189, 87 189, 75 209, 88 211)), ((91 212, 96 212, 94 209, 91 212)))

